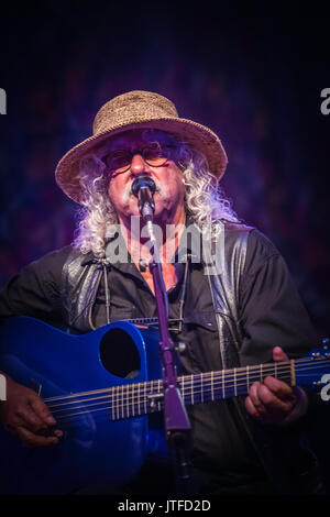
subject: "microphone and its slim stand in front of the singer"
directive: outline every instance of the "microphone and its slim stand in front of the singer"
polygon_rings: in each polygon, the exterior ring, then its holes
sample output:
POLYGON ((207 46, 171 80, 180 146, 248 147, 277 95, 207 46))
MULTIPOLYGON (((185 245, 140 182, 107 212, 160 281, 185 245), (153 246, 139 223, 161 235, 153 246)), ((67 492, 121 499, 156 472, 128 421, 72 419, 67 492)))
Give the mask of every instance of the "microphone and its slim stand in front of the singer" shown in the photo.
POLYGON ((161 356, 164 385, 164 420, 168 448, 172 452, 173 466, 176 480, 177 494, 196 495, 193 481, 193 464, 190 461, 190 422, 186 407, 178 388, 175 366, 175 345, 168 331, 168 300, 160 251, 153 230, 154 202, 150 196, 148 187, 142 186, 139 190, 139 209, 153 244, 153 256, 150 261, 150 271, 153 276, 158 326, 161 333, 161 356))

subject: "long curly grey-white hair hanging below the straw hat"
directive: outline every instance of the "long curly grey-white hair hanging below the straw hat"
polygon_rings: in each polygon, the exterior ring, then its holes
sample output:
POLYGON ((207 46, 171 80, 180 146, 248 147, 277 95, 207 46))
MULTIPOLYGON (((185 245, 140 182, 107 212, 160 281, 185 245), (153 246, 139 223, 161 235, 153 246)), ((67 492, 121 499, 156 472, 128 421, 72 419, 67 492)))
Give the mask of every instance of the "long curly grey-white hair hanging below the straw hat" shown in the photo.
MULTIPOLYGON (((143 135, 153 133, 153 130, 143 131, 143 135)), ((156 133, 158 131, 155 132, 155 141, 156 133)), ((183 172, 185 209, 190 221, 200 231, 206 226, 216 231, 223 219, 238 222, 231 202, 226 199, 218 179, 210 173, 204 154, 176 135, 170 134, 170 138, 177 147, 176 163, 183 172)), ((107 232, 110 226, 118 223, 118 218, 108 195, 109 172, 99 153, 91 153, 81 160, 79 180, 84 197, 82 208, 77 212, 74 246, 81 253, 91 251, 101 258, 105 256, 107 232)))

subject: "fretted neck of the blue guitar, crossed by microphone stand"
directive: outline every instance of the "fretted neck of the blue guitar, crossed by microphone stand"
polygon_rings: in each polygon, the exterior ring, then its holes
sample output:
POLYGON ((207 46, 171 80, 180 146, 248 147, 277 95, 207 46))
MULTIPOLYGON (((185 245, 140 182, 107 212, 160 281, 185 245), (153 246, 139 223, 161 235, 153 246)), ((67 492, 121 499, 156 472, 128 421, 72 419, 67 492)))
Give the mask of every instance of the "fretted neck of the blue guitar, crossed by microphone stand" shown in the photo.
MULTIPOLYGON (((250 386, 268 375, 294 386, 296 384, 295 363, 290 360, 280 363, 198 373, 178 377, 178 385, 185 405, 246 395, 250 386)), ((112 420, 161 411, 164 407, 163 380, 132 383, 111 388, 110 415, 112 420)))

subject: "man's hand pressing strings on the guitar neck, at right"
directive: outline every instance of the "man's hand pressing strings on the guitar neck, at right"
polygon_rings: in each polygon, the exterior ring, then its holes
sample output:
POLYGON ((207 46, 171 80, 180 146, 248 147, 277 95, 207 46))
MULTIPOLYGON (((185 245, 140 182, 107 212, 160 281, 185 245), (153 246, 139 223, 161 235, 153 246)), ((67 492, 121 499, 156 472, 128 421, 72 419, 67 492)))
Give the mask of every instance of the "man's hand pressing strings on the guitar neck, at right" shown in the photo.
MULTIPOLYGON (((279 348, 273 349, 274 361, 288 361, 286 353, 279 348)), ((283 381, 266 377, 263 383, 255 382, 245 398, 246 411, 263 424, 286 426, 307 411, 308 399, 299 387, 292 388, 283 381)))

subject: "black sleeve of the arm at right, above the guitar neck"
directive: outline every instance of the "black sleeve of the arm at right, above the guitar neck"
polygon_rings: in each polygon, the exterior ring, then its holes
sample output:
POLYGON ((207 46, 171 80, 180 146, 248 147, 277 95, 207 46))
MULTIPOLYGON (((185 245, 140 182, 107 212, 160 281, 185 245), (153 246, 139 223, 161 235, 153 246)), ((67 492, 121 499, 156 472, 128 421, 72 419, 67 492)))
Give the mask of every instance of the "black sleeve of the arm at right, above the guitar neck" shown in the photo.
POLYGON ((242 364, 272 361, 273 348, 297 358, 317 345, 310 318, 287 265, 262 233, 250 233, 240 290, 242 364))

